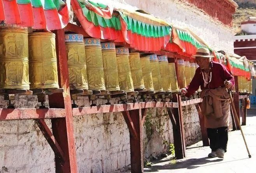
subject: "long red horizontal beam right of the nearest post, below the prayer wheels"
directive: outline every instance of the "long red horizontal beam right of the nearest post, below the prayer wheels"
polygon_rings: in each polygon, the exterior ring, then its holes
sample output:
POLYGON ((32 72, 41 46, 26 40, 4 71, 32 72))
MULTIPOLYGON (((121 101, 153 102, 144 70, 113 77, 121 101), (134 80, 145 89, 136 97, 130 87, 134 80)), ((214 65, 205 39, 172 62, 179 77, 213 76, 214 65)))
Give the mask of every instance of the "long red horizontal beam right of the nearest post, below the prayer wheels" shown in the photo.
POLYGON ((128 104, 111 104, 83 108, 73 108, 73 116, 87 115, 93 113, 121 112, 143 108, 177 108, 178 104, 173 102, 140 102, 128 104))

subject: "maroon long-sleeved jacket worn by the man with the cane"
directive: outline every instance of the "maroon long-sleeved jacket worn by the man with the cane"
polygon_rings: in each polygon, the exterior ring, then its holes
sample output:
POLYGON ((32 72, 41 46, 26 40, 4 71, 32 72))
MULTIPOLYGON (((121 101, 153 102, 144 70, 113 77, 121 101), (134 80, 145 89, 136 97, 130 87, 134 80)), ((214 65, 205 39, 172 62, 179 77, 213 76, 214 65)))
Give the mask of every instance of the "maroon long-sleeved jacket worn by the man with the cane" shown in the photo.
MULTIPOLYGON (((193 94, 195 91, 198 90, 199 86, 201 89, 210 88, 215 89, 220 86, 224 86, 224 81, 228 80, 231 82, 231 84, 234 86, 234 77, 228 72, 228 69, 222 65, 221 63, 211 61, 210 66, 212 71, 212 81, 206 85, 206 87, 203 86, 203 76, 200 67, 196 69, 195 76, 193 77, 190 84, 186 87, 187 93, 185 96, 189 97, 191 94, 193 94)), ((208 81, 210 81, 210 74, 208 74, 208 81)))

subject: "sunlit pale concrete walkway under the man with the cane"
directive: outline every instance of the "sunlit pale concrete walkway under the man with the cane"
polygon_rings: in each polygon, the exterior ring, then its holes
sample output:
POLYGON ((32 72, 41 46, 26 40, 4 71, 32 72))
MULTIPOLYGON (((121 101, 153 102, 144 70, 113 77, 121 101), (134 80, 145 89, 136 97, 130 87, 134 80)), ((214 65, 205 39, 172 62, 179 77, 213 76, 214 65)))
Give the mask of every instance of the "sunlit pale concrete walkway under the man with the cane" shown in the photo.
POLYGON ((252 158, 248 158, 240 130, 229 132, 228 152, 224 159, 208 158, 210 147, 202 141, 187 147, 186 159, 165 158, 153 161, 153 167, 144 168, 150 173, 256 173, 256 110, 248 110, 247 125, 242 126, 252 158))

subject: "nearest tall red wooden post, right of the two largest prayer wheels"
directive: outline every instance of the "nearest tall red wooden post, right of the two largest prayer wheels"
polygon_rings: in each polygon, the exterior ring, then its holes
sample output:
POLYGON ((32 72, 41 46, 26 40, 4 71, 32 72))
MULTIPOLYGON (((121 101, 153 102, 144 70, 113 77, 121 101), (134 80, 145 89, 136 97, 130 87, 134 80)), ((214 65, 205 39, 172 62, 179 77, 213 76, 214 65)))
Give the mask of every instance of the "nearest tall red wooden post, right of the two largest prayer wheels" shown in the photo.
MULTIPOLYGON (((49 95, 49 106, 50 108, 65 108, 66 114, 65 118, 54 118, 51 120, 53 135, 60 144, 65 155, 65 162, 63 165, 55 159, 55 169, 56 173, 77 173, 65 33, 64 29, 55 30, 54 33, 56 34, 58 79, 60 87, 63 88, 63 93, 49 95)), ((56 157, 57 156, 55 155, 55 158, 56 157)))

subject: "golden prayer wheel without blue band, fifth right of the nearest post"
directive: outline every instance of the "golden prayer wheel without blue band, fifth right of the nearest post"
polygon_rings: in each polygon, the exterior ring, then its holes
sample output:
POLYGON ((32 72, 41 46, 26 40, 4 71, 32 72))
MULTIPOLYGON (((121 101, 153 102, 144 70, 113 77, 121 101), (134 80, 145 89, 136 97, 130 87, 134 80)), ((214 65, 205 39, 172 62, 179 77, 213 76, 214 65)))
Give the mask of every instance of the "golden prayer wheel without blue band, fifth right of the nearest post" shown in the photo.
POLYGON ((145 86, 140 64, 140 53, 130 53, 129 61, 134 89, 144 89, 145 86))

